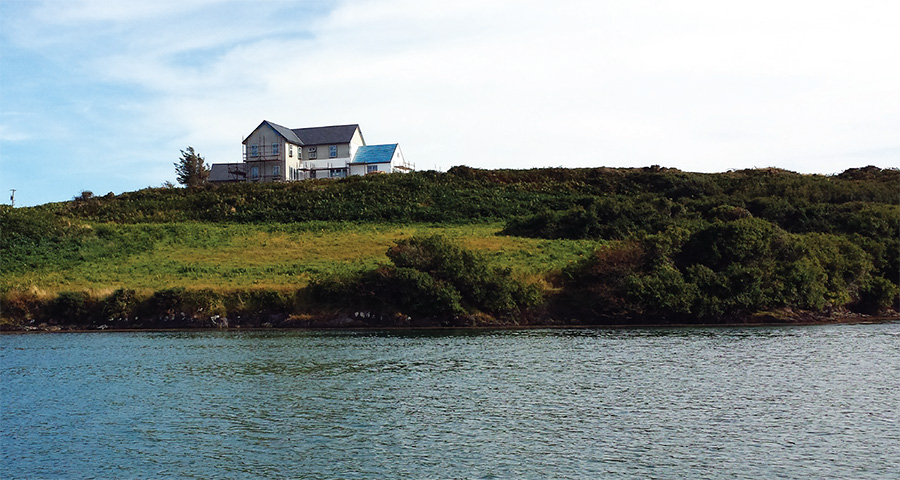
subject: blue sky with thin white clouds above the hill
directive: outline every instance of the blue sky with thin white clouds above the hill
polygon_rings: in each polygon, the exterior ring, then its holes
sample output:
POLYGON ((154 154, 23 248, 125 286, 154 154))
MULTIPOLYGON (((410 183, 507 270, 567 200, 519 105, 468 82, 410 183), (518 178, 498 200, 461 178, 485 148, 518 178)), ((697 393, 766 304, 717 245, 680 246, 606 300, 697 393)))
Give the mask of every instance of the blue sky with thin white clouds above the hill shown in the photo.
POLYGON ((359 123, 418 169, 900 165, 900 3, 2 0, 0 194, 359 123))

